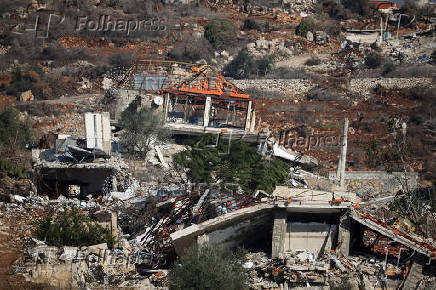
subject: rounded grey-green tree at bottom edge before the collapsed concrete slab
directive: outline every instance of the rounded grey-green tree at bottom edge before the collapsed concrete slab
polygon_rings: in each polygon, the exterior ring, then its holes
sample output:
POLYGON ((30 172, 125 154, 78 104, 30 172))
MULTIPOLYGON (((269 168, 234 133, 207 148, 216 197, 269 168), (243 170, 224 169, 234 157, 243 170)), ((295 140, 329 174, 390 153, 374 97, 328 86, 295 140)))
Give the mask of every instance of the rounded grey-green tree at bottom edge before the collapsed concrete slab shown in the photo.
POLYGON ((168 286, 171 290, 248 289, 241 256, 212 245, 188 248, 169 271, 168 286))

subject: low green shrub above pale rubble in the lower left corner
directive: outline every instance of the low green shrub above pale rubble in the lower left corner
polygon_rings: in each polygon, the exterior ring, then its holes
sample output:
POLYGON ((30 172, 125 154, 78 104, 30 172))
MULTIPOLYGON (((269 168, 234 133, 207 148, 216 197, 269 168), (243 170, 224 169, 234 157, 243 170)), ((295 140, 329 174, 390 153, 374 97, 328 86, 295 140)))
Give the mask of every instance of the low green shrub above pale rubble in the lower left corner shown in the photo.
POLYGON ((77 208, 64 212, 50 213, 35 222, 35 235, 50 246, 83 247, 107 243, 112 248, 114 238, 111 231, 83 215, 77 208))

